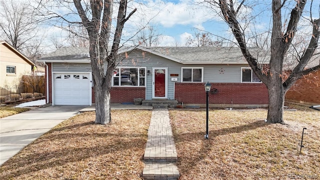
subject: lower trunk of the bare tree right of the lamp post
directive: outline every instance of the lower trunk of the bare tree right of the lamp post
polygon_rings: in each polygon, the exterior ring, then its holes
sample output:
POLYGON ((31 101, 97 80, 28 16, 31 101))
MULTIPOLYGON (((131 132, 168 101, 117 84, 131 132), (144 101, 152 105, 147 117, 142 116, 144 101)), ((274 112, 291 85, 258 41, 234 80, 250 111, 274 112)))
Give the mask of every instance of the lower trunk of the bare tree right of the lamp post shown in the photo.
POLYGON ((268 86, 269 107, 267 122, 283 123, 283 105, 285 91, 279 82, 270 83, 268 86))

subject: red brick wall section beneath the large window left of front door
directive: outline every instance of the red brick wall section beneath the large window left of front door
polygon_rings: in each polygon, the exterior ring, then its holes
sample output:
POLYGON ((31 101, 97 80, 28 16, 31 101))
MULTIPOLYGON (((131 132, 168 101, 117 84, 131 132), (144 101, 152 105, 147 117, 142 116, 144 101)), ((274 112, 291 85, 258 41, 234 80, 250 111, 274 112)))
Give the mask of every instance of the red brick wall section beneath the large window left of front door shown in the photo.
POLYGON ((111 87, 111 103, 134 102, 133 98, 145 99, 145 87, 111 87))

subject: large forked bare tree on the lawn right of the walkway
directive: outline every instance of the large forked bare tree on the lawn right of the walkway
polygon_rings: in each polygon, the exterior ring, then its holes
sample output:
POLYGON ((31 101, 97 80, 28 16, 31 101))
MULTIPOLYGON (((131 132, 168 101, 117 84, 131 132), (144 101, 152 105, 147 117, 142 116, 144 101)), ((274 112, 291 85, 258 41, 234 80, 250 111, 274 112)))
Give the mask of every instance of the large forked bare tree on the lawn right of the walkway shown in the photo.
MULTIPOLYGON (((287 0, 272 0, 272 31, 270 42, 270 62, 268 70, 263 68, 263 64, 259 64, 258 59, 253 57, 248 49, 245 27, 240 23, 241 11, 246 7, 245 0, 234 3, 233 0, 205 0, 212 8, 218 7, 220 15, 230 27, 238 46, 253 72, 266 85, 269 95, 269 107, 267 113, 267 121, 272 123, 283 123, 283 105, 286 91, 291 85, 303 75, 320 69, 320 64, 313 67, 305 68, 318 45, 320 34, 320 19, 313 19, 312 13, 309 17, 309 25, 312 27, 312 33, 309 34, 307 46, 303 48, 302 53, 297 54, 297 64, 294 66, 287 78, 282 76, 283 62, 292 45, 292 40, 296 35, 299 20, 304 12, 306 0, 296 0, 289 3, 287 0), (286 9, 289 14, 285 14, 286 9), (283 23, 284 21, 284 23, 283 23), (242 26, 241 26, 242 25, 242 26)), ((310 6, 312 7, 312 2, 310 6)), ((265 5, 265 4, 264 4, 265 5)), ((311 9, 310 7, 310 9, 311 9)), ((246 19, 249 20, 249 19, 246 19)))

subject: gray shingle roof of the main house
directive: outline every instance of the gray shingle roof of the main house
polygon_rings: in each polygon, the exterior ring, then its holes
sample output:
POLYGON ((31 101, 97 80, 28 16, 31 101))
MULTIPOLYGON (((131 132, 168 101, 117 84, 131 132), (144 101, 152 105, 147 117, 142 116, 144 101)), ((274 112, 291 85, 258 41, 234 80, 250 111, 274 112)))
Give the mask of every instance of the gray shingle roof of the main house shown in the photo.
MULTIPOLYGON (((123 48, 125 49, 125 48, 123 48)), ((127 51, 134 48, 126 48, 127 51)), ((135 47, 150 53, 169 58, 182 64, 246 64, 239 47, 135 47)), ((125 50, 119 50, 124 52, 125 50)), ((269 55, 259 47, 249 48, 259 63, 268 63, 269 55)), ((41 58, 42 61, 81 61, 89 60, 87 47, 62 47, 41 58)))

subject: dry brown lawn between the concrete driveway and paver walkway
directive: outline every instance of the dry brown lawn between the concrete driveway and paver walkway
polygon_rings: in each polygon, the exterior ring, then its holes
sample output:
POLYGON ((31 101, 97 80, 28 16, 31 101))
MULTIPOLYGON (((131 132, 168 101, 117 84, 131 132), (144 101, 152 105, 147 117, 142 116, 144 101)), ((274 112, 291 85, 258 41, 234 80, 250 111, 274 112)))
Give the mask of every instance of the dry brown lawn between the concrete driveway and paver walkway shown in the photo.
POLYGON ((107 125, 94 112, 71 117, 0 167, 0 179, 141 179, 151 111, 112 110, 107 125))

